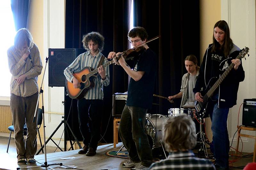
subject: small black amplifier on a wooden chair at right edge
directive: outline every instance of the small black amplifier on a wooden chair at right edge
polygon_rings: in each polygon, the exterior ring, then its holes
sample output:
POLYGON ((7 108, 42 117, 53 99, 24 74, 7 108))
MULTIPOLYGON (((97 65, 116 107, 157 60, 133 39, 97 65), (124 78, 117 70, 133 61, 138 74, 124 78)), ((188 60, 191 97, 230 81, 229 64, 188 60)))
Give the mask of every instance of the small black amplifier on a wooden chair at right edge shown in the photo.
POLYGON ((256 99, 244 99, 242 124, 256 127, 256 99))

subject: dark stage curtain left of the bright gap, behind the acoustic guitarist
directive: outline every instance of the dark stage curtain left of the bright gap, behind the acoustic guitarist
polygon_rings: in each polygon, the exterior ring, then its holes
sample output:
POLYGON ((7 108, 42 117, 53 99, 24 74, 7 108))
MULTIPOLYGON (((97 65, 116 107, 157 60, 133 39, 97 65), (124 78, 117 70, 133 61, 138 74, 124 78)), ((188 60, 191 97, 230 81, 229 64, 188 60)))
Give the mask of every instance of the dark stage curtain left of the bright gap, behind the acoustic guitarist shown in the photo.
MULTIPOLYGON (((129 31, 128 9, 131 0, 66 0, 65 48, 83 48, 83 35, 89 32, 99 32, 105 38, 103 55, 106 57, 111 51, 122 52, 128 47, 127 34, 129 31)), ((125 92, 128 88, 127 75, 119 66, 109 66, 110 84, 104 86, 104 113, 101 125, 102 136, 107 129, 104 139, 113 142, 112 95, 125 92), (110 119, 110 120, 109 120, 110 119)), ((68 97, 65 96, 65 100, 68 97)), ((69 100, 69 99, 67 99, 69 100)), ((77 126, 76 100, 73 100, 71 120, 74 131, 79 132, 77 126), (76 126, 76 127, 75 127, 76 126)), ((67 107, 69 112, 69 107, 67 107)), ((67 116, 67 115, 66 115, 67 116)), ((70 119, 70 118, 69 118, 70 119)), ((81 138, 80 138, 81 139, 81 138)), ((101 140, 105 142, 104 140, 101 140)))

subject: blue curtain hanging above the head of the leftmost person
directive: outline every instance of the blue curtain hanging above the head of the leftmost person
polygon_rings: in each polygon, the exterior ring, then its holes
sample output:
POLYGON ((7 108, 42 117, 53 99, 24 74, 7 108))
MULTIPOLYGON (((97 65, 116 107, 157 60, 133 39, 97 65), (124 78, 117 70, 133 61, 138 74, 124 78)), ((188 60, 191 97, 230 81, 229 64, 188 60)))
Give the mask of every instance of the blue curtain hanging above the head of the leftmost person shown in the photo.
POLYGON ((11 8, 16 31, 27 28, 30 0, 11 0, 11 8))

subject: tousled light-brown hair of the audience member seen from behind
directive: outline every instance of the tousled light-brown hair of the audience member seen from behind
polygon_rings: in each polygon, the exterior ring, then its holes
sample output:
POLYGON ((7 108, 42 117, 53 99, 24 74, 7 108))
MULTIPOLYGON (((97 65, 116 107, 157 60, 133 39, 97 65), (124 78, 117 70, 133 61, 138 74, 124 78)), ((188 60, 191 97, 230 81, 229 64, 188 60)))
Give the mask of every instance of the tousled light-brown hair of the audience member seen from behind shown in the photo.
POLYGON ((163 125, 166 151, 189 150, 196 146, 196 124, 187 115, 170 117, 163 125))

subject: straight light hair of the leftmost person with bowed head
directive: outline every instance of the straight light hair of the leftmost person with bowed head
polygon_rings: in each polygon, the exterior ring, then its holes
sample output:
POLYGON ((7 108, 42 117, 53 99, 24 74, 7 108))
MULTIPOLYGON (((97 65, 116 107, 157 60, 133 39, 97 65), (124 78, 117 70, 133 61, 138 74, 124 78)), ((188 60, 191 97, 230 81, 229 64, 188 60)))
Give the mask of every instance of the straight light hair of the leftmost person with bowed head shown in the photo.
POLYGON ((17 31, 14 37, 14 48, 21 51, 24 42, 27 43, 28 49, 31 49, 34 45, 31 33, 26 28, 21 28, 17 31))

